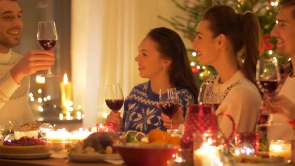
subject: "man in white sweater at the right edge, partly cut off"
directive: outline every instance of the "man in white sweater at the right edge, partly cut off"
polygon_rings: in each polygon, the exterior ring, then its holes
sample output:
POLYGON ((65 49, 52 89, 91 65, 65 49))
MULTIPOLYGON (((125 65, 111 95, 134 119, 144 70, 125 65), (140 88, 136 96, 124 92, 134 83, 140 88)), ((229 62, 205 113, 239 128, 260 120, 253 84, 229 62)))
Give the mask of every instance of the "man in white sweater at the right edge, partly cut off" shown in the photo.
MULTIPOLYGON (((277 53, 283 56, 290 56, 293 64, 295 61, 295 0, 280 0, 281 9, 277 16, 278 24, 271 34, 278 40, 277 53)), ((279 96, 284 95, 292 102, 295 102, 295 68, 288 75, 279 96)), ((280 115, 273 115, 274 123, 281 123, 280 126, 270 126, 267 131, 267 139, 293 140, 295 134, 293 128, 288 124, 286 118, 280 115)))

